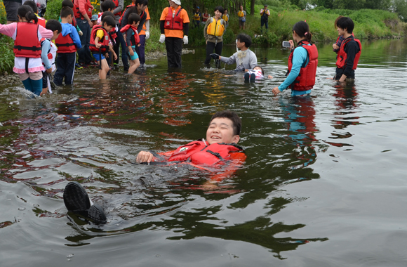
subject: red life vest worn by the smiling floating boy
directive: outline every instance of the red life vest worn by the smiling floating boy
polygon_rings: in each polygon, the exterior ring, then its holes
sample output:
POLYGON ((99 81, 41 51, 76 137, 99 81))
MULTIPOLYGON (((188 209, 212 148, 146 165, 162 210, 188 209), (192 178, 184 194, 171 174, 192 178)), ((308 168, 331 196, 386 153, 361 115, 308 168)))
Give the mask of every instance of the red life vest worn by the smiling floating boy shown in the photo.
POLYGON ((207 145, 204 141, 194 141, 187 145, 180 146, 171 157, 170 162, 191 161, 197 165, 212 165, 222 160, 227 160, 231 152, 241 152, 243 149, 235 143, 213 143, 207 145))

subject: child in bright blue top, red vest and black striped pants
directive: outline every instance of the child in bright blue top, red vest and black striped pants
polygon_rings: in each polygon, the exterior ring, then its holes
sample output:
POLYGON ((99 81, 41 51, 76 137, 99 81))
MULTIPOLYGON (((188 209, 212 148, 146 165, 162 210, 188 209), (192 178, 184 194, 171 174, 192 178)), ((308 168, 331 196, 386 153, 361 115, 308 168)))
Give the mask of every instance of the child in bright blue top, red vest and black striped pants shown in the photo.
POLYGON ((76 63, 76 50, 81 48, 81 39, 72 25, 74 11, 72 8, 65 6, 61 9, 61 26, 62 32, 57 39, 55 45, 58 47, 56 66, 57 70, 54 75, 54 83, 58 86, 62 85, 65 79, 65 84, 74 83, 74 72, 76 63))

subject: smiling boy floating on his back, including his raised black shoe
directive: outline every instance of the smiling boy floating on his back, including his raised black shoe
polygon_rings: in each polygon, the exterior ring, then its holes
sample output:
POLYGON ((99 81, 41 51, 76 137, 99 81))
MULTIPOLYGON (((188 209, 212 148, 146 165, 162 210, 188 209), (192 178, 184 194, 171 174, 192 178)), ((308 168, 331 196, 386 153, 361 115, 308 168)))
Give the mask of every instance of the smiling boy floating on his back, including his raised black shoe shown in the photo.
MULTIPOLYGON (((192 141, 187 145, 169 152, 156 154, 155 152, 140 151, 136 162, 162 162, 167 164, 188 163, 200 169, 215 167, 229 163, 223 176, 213 176, 211 179, 219 181, 229 177, 241 164, 246 155, 243 149, 236 145, 240 140, 241 119, 236 112, 229 110, 216 112, 206 130, 206 140, 192 141)), ((209 169, 211 170, 211 169, 209 169)), ((217 171, 219 171, 217 169, 217 171)), ((78 182, 69 182, 64 191, 64 203, 68 211, 85 217, 94 223, 106 223, 105 212, 98 204, 89 200, 86 190, 78 182)))

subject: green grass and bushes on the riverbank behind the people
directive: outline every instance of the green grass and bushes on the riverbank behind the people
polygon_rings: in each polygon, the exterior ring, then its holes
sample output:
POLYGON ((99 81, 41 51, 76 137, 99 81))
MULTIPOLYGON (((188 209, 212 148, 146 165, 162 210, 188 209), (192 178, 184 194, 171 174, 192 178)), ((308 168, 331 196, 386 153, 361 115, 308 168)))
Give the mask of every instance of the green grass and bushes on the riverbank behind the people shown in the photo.
MULTIPOLYGON (((248 1, 247 1, 248 2, 248 1)), ((91 1, 95 7, 94 13, 100 10, 100 2, 98 0, 91 1)), ((130 4, 130 0, 126 0, 124 6, 130 4)), ((266 2, 265 2, 266 3, 266 2)), ((262 5, 254 6, 254 14, 246 17, 246 30, 239 31, 237 15, 229 12, 229 27, 225 32, 225 44, 234 44, 236 34, 244 32, 253 38, 255 45, 275 46, 281 41, 291 39, 291 30, 295 22, 306 20, 313 34, 314 41, 333 41, 338 37, 338 32, 333 27, 333 22, 339 15, 349 16, 355 22, 354 34, 359 39, 378 39, 378 38, 394 38, 401 37, 407 33, 407 23, 400 20, 397 13, 378 9, 330 9, 316 7, 309 10, 300 9, 298 6, 290 4, 287 1, 274 0, 270 1, 269 10, 269 29, 260 28, 260 9, 262 5)), ((50 0, 46 9, 46 19, 58 20, 62 0, 50 0)), ((205 3, 204 3, 205 4, 205 3)), ((250 5, 250 3, 248 3, 250 5)), ((164 4, 158 4, 156 1, 149 5, 150 14, 161 13, 161 8, 164 4), (156 11, 156 9, 160 9, 156 11)), ((201 6, 201 11, 208 8, 211 13, 213 6, 201 6)), ((214 5, 214 4, 211 4, 214 5)), ((236 5, 235 5, 236 6, 236 5)), ((189 11, 189 18, 192 19, 192 11, 194 5, 186 3, 183 6, 189 11)), ((250 8, 246 8, 250 10, 250 8)), ((6 11, 4 10, 3 1, 0 0, 0 21, 6 22, 6 11)), ((191 25, 192 26, 192 25, 191 25)), ((204 27, 189 28, 189 45, 202 46, 205 44, 204 27)), ((146 54, 165 51, 165 45, 159 43, 159 17, 152 15, 150 20, 150 39, 146 43, 146 54)), ((10 72, 14 65, 13 55, 13 40, 1 34, 0 36, 0 73, 5 71, 10 72)))

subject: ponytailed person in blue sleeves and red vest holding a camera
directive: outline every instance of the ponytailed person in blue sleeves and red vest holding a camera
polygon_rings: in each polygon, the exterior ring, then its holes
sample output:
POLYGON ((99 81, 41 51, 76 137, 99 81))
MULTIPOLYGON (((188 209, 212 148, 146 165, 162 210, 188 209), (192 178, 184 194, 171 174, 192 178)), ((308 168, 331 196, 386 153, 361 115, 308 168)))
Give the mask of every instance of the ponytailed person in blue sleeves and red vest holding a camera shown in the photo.
POLYGON ((312 34, 307 22, 300 21, 293 26, 293 39, 298 46, 294 49, 290 40, 291 54, 288 58, 288 76, 278 87, 273 89, 276 96, 284 89, 291 88, 291 96, 306 96, 311 93, 315 84, 316 67, 318 65, 318 50, 311 44, 312 34))

